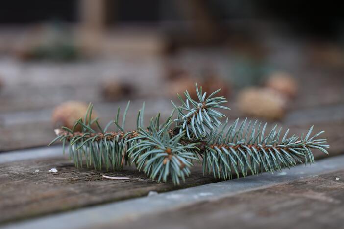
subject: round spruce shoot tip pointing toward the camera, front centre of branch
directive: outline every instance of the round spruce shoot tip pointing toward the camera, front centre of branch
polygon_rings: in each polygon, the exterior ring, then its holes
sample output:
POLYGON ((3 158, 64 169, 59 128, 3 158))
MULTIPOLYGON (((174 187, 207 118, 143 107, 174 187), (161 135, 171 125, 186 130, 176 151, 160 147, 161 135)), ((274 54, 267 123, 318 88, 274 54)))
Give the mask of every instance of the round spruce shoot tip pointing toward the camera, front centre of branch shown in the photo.
POLYGON ((193 152, 196 144, 181 144, 183 132, 173 137, 167 129, 162 132, 153 129, 153 136, 143 130, 139 133, 139 137, 135 139, 138 143, 128 150, 137 168, 143 168, 152 180, 158 176, 158 182, 166 182, 169 175, 174 184, 180 183, 179 178, 185 181, 192 166, 190 160, 197 160, 193 152))

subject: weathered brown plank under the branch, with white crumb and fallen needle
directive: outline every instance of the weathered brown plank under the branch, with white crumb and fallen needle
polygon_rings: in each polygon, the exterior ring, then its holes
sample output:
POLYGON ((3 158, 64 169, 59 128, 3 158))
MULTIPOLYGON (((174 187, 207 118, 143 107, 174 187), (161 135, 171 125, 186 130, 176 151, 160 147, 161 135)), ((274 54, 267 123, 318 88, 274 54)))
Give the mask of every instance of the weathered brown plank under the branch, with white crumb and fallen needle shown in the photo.
POLYGON ((143 172, 127 168, 121 172, 77 170, 68 159, 58 157, 0 164, 0 224, 128 198, 145 196, 149 191, 213 183, 199 166, 180 186, 156 183, 143 172), (57 173, 48 170, 56 168, 57 173), (35 170, 39 172, 35 172, 35 170), (129 177, 110 180, 101 175, 129 177))

